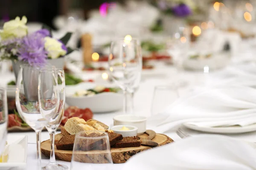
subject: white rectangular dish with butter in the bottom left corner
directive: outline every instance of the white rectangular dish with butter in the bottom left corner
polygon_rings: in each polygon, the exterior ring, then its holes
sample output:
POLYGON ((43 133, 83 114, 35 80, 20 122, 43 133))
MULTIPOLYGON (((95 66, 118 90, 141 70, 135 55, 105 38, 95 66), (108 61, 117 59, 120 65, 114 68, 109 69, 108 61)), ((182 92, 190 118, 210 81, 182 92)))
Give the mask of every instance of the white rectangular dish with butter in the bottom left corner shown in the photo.
POLYGON ((26 168, 28 137, 24 135, 8 135, 7 142, 10 145, 9 159, 6 163, 0 163, 0 170, 9 170, 13 167, 26 168))

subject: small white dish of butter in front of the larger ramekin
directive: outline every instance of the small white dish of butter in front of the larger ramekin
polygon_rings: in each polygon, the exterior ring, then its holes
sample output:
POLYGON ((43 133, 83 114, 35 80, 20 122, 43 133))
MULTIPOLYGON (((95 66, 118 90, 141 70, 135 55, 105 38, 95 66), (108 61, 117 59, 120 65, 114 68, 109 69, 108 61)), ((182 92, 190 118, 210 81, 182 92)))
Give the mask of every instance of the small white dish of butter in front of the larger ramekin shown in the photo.
POLYGON ((137 127, 131 126, 131 125, 116 125, 116 126, 112 126, 110 129, 113 130, 114 133, 121 134, 123 137, 137 136, 137 131, 138 131, 137 127), (130 130, 120 130, 124 126, 130 130))

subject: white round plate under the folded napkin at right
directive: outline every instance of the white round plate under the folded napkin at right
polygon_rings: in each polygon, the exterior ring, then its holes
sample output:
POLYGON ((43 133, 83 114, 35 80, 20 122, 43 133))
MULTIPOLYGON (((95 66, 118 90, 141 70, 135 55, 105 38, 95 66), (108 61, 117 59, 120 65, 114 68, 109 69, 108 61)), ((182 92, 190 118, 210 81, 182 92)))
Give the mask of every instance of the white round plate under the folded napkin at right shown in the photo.
POLYGON ((246 133, 246 132, 253 132, 256 131, 256 124, 249 125, 249 126, 230 126, 230 127, 201 127, 191 125, 189 123, 183 124, 185 127, 198 130, 202 132, 209 132, 209 133, 246 133))

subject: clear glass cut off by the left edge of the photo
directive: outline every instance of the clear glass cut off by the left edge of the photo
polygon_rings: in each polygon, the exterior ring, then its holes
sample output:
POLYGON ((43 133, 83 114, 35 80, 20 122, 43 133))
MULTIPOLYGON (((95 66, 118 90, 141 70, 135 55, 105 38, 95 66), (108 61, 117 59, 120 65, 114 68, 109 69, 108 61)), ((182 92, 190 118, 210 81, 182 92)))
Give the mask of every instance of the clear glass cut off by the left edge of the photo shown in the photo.
POLYGON ((0 155, 4 150, 7 138, 8 108, 6 90, 0 88, 0 155))

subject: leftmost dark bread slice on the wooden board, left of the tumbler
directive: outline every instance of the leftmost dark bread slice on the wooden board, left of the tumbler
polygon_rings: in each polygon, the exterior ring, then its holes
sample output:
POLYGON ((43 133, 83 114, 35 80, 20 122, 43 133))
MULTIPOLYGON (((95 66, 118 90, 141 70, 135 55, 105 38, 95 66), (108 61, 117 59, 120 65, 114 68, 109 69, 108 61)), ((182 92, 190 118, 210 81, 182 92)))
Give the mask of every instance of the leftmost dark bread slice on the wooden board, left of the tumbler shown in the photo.
POLYGON ((65 135, 56 143, 58 150, 73 150, 76 135, 65 135))

